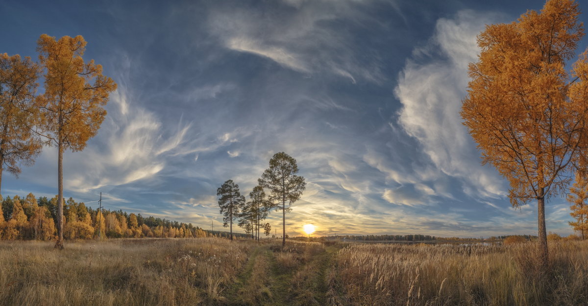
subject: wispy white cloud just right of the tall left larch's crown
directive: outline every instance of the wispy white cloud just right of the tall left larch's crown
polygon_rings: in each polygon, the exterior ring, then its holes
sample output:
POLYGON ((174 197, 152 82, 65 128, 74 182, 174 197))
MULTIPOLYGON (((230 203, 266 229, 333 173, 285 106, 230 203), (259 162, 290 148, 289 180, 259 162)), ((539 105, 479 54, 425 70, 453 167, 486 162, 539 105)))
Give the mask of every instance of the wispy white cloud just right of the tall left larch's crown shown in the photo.
MULTIPOLYGON (((121 72, 115 73, 118 89, 111 93, 106 106, 108 115, 98 135, 89 140, 82 152, 64 153, 65 190, 88 193, 149 179, 165 169, 169 156, 191 151, 186 147, 191 123, 178 118, 175 126, 164 126, 155 113, 141 107, 124 73, 128 61, 123 59, 121 72)), ((56 148, 46 147, 38 159, 37 171, 51 173, 55 167, 56 148)), ((26 175, 28 180, 52 185, 44 177, 26 175)), ((122 203, 128 201, 113 194, 107 197, 122 203)))

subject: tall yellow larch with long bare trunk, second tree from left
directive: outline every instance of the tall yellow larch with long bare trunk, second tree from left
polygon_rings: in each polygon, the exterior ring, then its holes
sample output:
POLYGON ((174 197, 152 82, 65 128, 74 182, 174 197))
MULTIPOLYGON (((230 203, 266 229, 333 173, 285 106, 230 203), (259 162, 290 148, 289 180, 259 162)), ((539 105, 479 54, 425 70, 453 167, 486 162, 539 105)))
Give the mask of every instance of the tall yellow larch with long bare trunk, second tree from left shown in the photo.
POLYGON ((106 116, 103 106, 116 83, 102 75, 102 66, 82 55, 86 41, 81 35, 64 36, 58 41, 43 34, 37 41, 39 61, 44 70, 45 92, 39 96, 41 127, 49 141, 58 147, 58 205, 56 248, 63 244, 63 154, 85 148, 88 139, 98 133, 106 116))

